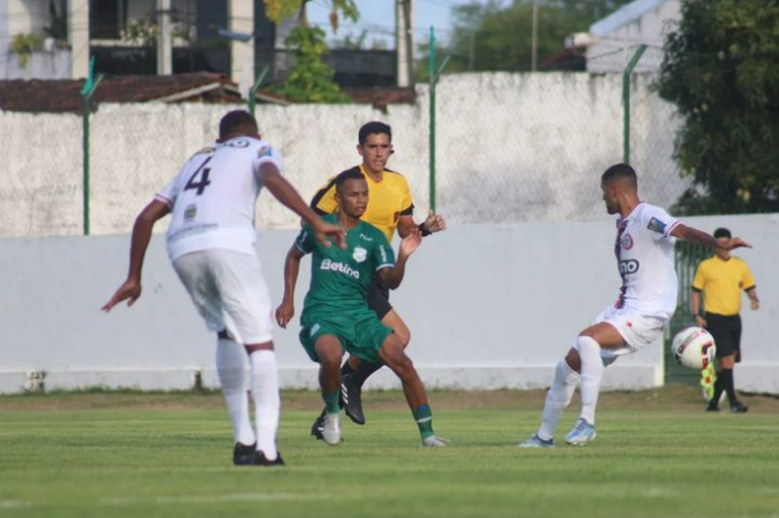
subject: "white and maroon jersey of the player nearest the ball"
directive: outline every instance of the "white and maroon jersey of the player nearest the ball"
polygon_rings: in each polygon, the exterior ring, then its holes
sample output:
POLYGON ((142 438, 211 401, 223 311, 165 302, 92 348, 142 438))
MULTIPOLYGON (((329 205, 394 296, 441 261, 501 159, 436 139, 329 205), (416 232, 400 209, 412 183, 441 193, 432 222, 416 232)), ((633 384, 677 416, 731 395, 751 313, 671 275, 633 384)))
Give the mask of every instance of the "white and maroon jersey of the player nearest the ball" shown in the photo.
POLYGON ((679 285, 671 231, 677 225, 679 220, 648 203, 617 219, 614 251, 623 285, 616 309, 661 319, 673 315, 679 285))

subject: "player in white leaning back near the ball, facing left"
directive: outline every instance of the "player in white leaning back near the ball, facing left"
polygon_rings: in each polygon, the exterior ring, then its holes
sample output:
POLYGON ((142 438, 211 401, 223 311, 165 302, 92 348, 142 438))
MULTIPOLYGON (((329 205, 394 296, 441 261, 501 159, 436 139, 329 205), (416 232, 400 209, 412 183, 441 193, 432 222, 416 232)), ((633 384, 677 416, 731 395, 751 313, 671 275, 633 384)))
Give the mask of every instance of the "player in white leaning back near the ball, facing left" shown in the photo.
POLYGON ((595 407, 601 378, 617 357, 635 353, 660 336, 677 309, 679 285, 673 265, 675 239, 711 248, 749 247, 739 238, 718 242, 688 227, 660 207, 638 197, 636 172, 616 164, 601 179, 608 214, 618 214, 615 255, 623 284, 617 301, 580 333, 565 358, 558 363, 547 393, 541 427, 520 447, 552 447, 558 421, 581 384, 582 413, 565 442, 583 446, 595 439, 595 407))

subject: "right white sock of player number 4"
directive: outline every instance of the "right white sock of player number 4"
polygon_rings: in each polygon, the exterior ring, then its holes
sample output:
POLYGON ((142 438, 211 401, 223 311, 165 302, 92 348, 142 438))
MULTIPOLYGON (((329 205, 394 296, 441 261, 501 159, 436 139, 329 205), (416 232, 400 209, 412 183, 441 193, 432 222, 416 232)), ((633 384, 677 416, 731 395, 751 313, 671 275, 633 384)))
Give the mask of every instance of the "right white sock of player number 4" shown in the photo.
POLYGON ((257 450, 266 458, 274 461, 275 433, 279 429, 279 368, 275 353, 256 350, 249 356, 251 361, 251 396, 255 399, 255 420, 257 425, 257 450))

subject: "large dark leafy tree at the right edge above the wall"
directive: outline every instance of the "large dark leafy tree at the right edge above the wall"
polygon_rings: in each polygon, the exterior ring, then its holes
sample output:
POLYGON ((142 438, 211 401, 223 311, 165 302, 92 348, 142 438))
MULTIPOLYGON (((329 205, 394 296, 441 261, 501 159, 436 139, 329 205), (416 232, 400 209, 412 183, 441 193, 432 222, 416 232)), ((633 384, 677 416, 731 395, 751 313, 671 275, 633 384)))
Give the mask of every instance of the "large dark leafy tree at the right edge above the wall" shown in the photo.
POLYGON ((682 2, 658 83, 684 123, 680 214, 779 211, 779 2, 682 2))

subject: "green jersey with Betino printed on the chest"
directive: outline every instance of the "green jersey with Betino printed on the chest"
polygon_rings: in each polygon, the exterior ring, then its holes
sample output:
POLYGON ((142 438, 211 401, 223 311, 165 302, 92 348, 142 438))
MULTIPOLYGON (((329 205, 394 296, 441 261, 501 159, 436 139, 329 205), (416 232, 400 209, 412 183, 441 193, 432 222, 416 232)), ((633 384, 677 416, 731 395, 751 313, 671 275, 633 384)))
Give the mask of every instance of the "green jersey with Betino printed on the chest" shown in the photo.
MULTIPOLYGON (((323 216, 338 224, 335 214, 323 216)), ((346 249, 335 244, 322 246, 310 225, 301 230, 295 246, 312 253, 311 288, 305 295, 303 312, 343 312, 366 307, 368 284, 375 272, 394 266, 394 252, 385 235, 375 226, 360 220, 346 233, 346 249)))

